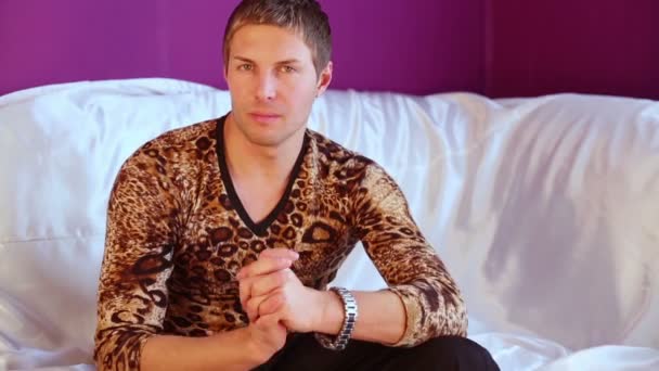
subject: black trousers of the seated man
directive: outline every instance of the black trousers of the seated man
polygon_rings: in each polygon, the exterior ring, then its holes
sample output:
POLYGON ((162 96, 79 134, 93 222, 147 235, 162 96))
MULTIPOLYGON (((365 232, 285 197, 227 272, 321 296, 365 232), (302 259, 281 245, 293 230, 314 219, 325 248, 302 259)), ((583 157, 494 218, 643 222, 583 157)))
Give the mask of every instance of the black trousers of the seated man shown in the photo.
POLYGON ((289 335, 257 371, 499 371, 490 353, 466 337, 441 336, 412 348, 351 340, 343 351, 325 349, 312 334, 289 335))

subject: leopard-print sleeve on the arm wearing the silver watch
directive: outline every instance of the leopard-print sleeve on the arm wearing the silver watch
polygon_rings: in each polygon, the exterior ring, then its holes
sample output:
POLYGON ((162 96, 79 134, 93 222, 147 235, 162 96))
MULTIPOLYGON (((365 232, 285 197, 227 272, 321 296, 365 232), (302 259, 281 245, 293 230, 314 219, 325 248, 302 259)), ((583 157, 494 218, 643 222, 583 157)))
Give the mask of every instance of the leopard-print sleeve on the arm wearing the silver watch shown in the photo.
POLYGON ((354 230, 369 257, 402 300, 405 332, 395 346, 440 335, 466 336, 460 290, 414 222, 408 202, 386 171, 367 165, 354 204, 354 230))

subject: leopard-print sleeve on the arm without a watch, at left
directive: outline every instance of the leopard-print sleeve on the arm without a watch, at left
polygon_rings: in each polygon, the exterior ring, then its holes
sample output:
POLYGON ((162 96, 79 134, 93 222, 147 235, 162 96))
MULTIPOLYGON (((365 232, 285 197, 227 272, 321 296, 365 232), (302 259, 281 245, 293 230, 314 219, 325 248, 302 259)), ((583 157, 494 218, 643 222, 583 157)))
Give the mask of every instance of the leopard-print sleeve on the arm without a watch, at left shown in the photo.
POLYGON ((176 203, 150 154, 142 149, 124 164, 109 197, 94 347, 100 370, 138 370, 145 341, 163 329, 176 203))

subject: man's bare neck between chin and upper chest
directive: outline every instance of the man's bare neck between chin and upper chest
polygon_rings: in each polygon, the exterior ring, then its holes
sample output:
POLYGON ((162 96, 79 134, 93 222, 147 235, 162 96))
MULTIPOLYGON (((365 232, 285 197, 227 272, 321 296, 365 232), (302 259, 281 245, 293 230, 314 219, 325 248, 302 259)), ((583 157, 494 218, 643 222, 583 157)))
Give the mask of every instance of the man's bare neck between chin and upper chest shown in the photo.
POLYGON ((234 180, 285 181, 301 151, 303 130, 277 146, 258 145, 238 130, 230 114, 224 121, 224 156, 234 180))

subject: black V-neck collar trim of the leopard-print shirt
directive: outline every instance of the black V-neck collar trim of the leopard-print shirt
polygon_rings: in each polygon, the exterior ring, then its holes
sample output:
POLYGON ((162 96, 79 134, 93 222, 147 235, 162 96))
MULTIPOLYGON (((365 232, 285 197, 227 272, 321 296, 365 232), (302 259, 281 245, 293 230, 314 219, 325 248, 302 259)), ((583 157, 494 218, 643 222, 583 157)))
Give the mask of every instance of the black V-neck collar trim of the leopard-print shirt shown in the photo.
POLYGON ((224 155, 224 151, 225 151, 224 121, 227 120, 228 116, 229 116, 229 114, 220 117, 217 121, 216 152, 218 154, 218 163, 220 166, 220 177, 222 178, 222 182, 224 183, 224 188, 227 190, 227 196, 229 197, 231 205, 233 205, 233 207, 235 208, 236 213, 238 214, 238 216, 241 217, 243 222, 255 234, 262 236, 262 235, 266 235, 266 232, 267 232, 268 228, 270 227, 270 225, 272 225, 272 222, 276 219, 279 214, 284 209, 284 207, 286 206, 286 203, 288 202, 288 197, 290 196, 290 191, 293 190, 295 180, 298 178, 298 175, 300 172, 300 169, 301 169, 301 166, 302 166, 302 163, 305 159, 305 154, 307 153, 307 149, 309 146, 309 133, 307 131, 305 132, 302 148, 300 150, 300 153, 297 156, 297 159, 295 161, 293 170, 290 170, 290 174, 288 176, 288 183, 286 184, 284 194, 282 195, 282 197, 280 199, 277 204, 274 206, 274 209, 272 209, 272 212, 270 212, 270 214, 268 214, 268 216, 266 216, 266 218, 263 218, 263 220, 261 220, 260 222, 257 223, 254 220, 251 220, 251 217, 249 216, 249 214, 247 214, 245 206, 243 206, 243 203, 241 202, 241 197, 238 197, 238 194, 235 191, 235 188, 233 186, 233 181, 231 180, 231 175, 229 174, 229 166, 227 165, 227 156, 224 155))

